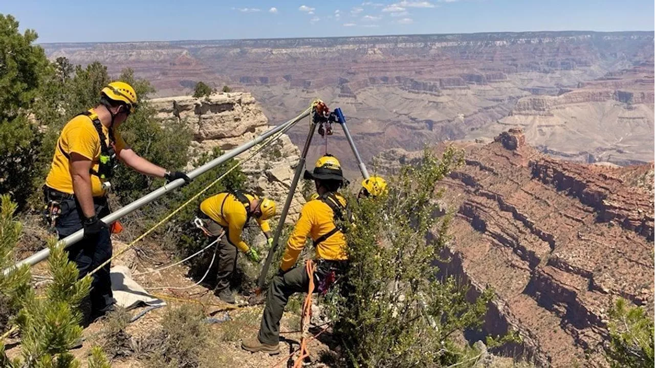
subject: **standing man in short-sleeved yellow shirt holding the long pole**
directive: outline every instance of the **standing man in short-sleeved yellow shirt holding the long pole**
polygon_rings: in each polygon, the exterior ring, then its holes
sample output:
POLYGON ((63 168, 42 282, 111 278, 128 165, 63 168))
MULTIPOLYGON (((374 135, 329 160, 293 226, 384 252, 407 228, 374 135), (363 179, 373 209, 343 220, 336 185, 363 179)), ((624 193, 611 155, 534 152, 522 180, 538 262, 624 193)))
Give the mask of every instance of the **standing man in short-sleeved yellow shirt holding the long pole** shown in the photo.
MULTIPOLYGON (((96 107, 65 124, 54 149, 43 187, 45 215, 60 239, 84 229, 83 240, 67 249, 80 277, 111 258, 109 229, 100 218, 110 212, 106 194, 117 159, 141 174, 190 181, 183 172, 168 172, 137 155, 122 139, 118 128, 136 104, 130 84, 109 83, 96 107)), ((109 268, 107 264, 92 276, 90 310, 82 308, 85 324, 112 308, 109 268)))

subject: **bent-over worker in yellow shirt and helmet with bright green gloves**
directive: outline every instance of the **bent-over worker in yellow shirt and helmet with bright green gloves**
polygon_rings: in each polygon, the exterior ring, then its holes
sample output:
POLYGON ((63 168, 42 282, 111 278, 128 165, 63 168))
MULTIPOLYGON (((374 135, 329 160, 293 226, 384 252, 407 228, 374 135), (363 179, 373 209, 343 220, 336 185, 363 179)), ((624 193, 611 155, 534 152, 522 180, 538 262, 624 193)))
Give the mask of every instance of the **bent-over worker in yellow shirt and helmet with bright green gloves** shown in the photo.
POLYGON ((255 248, 248 246, 242 240, 242 230, 248 225, 250 218, 254 217, 266 236, 270 248, 273 237, 267 220, 274 215, 275 202, 242 191, 219 193, 200 204, 200 217, 202 217, 200 220, 206 232, 210 236, 219 236, 225 230, 219 243, 215 287, 215 293, 222 301, 234 304, 234 293, 230 289, 230 282, 236 268, 237 250, 242 251, 253 263, 260 261, 255 248))

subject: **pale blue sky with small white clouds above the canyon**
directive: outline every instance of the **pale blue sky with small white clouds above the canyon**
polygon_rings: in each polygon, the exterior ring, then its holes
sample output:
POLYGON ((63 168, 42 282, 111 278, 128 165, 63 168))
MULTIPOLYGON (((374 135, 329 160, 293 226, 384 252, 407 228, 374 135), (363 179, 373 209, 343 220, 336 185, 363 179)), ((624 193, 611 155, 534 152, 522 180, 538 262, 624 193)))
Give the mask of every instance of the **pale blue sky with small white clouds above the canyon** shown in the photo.
POLYGON ((655 29, 655 0, 0 0, 0 13, 41 43, 655 29))

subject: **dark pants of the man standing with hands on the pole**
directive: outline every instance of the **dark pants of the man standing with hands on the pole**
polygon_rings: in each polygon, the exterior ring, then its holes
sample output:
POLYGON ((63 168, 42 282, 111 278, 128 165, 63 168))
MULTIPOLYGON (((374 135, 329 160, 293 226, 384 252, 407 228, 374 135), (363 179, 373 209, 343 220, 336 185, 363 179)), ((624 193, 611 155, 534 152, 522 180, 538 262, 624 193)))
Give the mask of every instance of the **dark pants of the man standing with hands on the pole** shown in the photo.
MULTIPOLYGON (((55 229, 60 239, 73 234, 83 228, 84 215, 76 199, 58 200, 62 212, 55 222, 55 229)), ((94 205, 98 217, 109 214, 107 198, 94 198, 94 205)), ((111 238, 109 229, 102 229, 97 236, 85 237, 66 249, 69 261, 75 262, 79 270, 79 277, 83 278, 111 258, 111 238)), ((91 276, 91 316, 104 314, 115 303, 111 292, 111 279, 109 278, 108 263, 91 276)))

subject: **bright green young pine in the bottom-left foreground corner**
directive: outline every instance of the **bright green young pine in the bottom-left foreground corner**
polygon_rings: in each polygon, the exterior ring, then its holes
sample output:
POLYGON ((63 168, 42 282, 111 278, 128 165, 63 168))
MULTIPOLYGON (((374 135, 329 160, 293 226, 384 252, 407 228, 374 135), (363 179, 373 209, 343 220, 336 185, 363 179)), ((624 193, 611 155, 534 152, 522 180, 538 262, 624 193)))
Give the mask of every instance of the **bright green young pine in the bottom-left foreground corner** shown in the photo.
MULTIPOLYGON (((16 247, 21 225, 14 218, 16 204, 7 194, 1 198, 0 216, 0 270, 12 265, 12 250, 16 247)), ((22 267, 8 276, 0 274, 0 297, 9 301, 9 323, 20 331, 21 356, 7 358, 4 341, 0 340, 0 366, 18 367, 78 367, 69 353, 71 346, 82 335, 79 304, 88 295, 91 286, 89 276, 78 280, 75 263, 68 261, 67 253, 50 239, 48 270, 52 283, 48 284, 43 297, 37 297, 29 282, 29 268, 22 267)), ((4 325, 0 331, 5 332, 4 325)), ((102 361, 102 352, 94 359, 102 361)), ((94 365, 94 367, 106 367, 94 365)))

